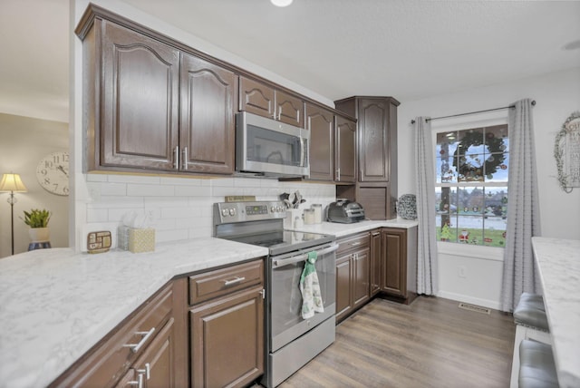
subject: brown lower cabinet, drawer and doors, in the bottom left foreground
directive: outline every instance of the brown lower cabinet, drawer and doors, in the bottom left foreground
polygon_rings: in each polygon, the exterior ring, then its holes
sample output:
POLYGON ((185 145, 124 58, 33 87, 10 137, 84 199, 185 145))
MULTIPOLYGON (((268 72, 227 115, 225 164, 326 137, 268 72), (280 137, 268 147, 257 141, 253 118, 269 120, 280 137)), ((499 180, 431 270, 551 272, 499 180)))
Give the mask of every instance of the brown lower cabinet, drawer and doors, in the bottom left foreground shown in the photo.
POLYGON ((187 386, 183 285, 164 286, 49 386, 187 386))

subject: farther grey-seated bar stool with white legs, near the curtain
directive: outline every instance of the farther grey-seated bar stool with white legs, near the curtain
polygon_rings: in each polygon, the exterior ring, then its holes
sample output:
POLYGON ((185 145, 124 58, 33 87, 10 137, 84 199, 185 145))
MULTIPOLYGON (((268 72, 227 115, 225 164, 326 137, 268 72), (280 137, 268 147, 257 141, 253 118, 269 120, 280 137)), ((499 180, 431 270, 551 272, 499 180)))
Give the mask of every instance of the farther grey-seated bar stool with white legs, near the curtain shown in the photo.
POLYGON ((546 307, 541 295, 523 293, 514 310, 516 338, 514 339, 514 356, 511 363, 511 380, 509 386, 517 388, 519 375, 519 344, 523 340, 534 340, 543 344, 552 344, 547 325, 546 307))

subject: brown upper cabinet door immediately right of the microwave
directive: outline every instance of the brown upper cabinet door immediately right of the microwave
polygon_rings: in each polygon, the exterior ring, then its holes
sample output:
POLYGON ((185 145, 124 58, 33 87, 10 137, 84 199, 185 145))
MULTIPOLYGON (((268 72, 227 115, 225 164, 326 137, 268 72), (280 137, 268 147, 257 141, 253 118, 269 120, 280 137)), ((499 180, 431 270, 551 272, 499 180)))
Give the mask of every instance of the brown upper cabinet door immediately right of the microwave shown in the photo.
POLYGON ((310 179, 333 181, 333 112, 306 103, 306 129, 310 130, 310 179))

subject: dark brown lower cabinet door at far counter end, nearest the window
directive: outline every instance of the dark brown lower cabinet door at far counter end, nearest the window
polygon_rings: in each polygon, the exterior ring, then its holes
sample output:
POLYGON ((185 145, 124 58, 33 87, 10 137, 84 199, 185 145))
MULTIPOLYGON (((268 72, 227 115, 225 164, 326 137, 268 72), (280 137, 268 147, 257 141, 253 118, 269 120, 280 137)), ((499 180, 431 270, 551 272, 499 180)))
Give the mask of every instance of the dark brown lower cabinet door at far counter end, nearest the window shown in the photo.
POLYGON ((382 291, 407 296, 407 232, 386 228, 382 231, 382 291))

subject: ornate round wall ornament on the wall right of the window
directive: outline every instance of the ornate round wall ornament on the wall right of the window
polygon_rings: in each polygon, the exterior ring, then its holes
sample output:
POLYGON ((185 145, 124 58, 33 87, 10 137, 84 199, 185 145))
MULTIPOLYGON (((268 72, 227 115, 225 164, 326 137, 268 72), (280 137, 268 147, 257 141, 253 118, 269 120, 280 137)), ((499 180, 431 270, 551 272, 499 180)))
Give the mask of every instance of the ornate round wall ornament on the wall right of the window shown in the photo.
POLYGON ((570 193, 580 187, 580 111, 570 114, 556 134, 554 158, 560 188, 570 193))

